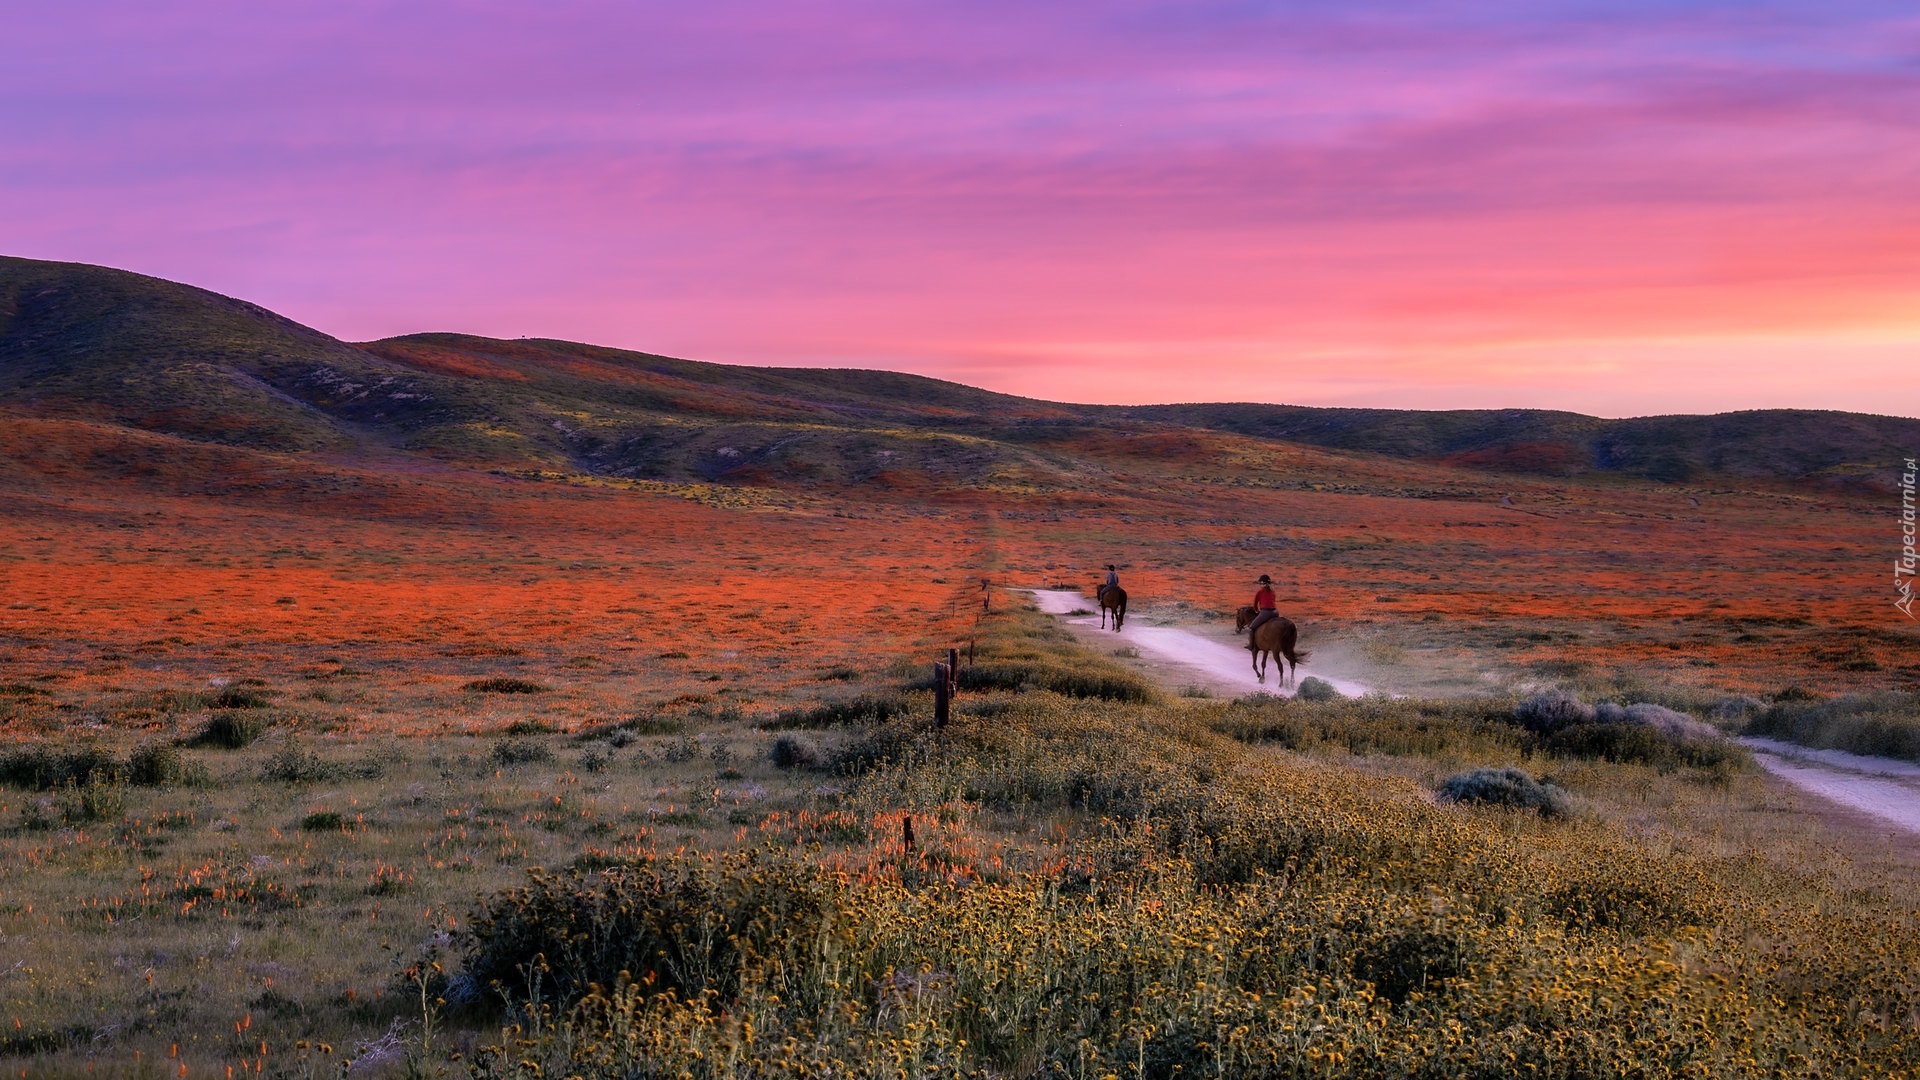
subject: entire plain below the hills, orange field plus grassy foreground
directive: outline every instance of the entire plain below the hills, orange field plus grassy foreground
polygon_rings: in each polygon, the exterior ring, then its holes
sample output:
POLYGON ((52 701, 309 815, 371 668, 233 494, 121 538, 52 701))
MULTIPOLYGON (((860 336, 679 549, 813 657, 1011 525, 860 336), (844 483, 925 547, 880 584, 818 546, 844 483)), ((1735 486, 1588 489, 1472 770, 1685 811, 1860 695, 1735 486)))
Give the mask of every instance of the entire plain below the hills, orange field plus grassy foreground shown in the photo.
POLYGON ((1912 690, 1895 500, 1020 452, 670 482, 6 415, 0 1076, 1920 1061, 1907 849, 1692 719, 1517 721, 1912 690), (1018 592, 1106 563, 1146 625, 1273 575, 1407 698, 1175 698, 1018 592))

